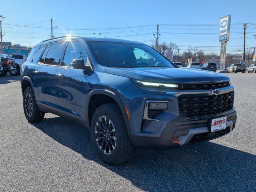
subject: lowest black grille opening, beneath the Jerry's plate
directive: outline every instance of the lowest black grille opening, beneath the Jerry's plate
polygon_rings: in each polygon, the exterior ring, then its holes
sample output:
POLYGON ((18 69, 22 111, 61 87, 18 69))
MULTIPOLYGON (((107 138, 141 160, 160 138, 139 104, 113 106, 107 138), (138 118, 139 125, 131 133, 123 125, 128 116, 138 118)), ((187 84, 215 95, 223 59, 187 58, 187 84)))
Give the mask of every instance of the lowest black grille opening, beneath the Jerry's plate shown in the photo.
POLYGON ((222 130, 219 130, 219 131, 216 131, 216 132, 207 132, 207 133, 195 134, 192 137, 192 139, 189 141, 189 144, 208 141, 208 140, 211 140, 211 139, 214 139, 214 138, 218 138, 220 136, 228 134, 229 130, 230 130, 230 127, 227 127, 226 129, 222 129, 222 130))

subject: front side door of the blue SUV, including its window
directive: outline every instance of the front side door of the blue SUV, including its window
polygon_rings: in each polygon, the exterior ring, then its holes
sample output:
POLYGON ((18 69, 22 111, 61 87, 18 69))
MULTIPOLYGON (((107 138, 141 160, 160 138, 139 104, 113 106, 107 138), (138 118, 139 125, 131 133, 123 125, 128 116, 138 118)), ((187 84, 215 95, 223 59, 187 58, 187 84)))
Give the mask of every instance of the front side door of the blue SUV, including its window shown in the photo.
POLYGON ((56 105, 69 116, 85 120, 85 101, 88 92, 88 76, 82 69, 75 69, 71 62, 74 59, 88 59, 80 42, 70 41, 66 47, 63 61, 57 70, 56 105))

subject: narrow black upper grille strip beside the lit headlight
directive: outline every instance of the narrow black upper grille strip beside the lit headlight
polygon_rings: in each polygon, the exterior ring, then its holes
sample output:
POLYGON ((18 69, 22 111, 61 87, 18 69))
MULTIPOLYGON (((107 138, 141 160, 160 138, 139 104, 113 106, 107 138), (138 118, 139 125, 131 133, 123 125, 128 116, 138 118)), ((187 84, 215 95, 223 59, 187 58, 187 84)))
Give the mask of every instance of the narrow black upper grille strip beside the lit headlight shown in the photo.
POLYGON ((230 82, 220 83, 198 83, 198 84, 178 84, 178 90, 207 90, 230 86, 230 82))

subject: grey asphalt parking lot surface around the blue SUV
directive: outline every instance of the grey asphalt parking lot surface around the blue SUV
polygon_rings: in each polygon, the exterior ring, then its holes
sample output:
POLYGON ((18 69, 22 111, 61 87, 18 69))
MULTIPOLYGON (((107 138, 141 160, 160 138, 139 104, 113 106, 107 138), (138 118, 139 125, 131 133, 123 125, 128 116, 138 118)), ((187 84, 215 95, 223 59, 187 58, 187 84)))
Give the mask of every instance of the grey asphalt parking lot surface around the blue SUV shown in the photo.
POLYGON ((0 191, 256 191, 256 74, 227 74, 236 128, 200 144, 137 149, 110 166, 86 128, 53 114, 28 123, 18 76, 0 77, 0 191))

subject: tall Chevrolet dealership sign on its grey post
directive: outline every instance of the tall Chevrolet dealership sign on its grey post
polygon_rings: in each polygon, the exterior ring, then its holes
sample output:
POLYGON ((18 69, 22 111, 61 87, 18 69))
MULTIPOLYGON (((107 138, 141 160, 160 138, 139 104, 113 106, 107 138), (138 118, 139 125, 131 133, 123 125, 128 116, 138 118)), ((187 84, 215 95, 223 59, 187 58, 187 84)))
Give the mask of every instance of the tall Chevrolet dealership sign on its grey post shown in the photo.
POLYGON ((225 62, 226 62, 226 48, 227 41, 229 40, 230 34, 230 21, 231 15, 227 15, 220 19, 220 70, 225 70, 225 62))

